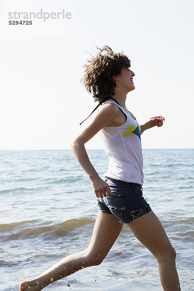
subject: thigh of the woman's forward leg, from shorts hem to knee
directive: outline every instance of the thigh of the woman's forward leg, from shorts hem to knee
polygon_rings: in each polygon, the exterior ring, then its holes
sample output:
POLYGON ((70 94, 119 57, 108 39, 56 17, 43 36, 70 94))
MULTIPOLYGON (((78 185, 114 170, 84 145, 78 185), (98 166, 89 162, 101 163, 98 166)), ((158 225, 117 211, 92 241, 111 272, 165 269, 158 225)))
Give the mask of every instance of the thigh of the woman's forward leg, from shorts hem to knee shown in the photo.
POLYGON ((151 210, 127 224, 136 238, 157 258, 171 253, 174 249, 155 213, 151 210))

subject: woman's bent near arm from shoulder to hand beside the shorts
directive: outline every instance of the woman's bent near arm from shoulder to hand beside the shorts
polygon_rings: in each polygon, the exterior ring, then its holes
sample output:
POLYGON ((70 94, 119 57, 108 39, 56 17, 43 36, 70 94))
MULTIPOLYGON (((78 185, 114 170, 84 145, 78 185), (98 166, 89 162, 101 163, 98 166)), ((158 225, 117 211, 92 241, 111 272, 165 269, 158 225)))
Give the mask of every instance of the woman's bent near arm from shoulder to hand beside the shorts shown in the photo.
POLYGON ((118 114, 118 110, 113 104, 102 106, 91 124, 81 132, 71 145, 73 154, 90 178, 92 188, 97 197, 110 196, 112 194, 108 184, 99 177, 90 162, 84 144, 94 137, 100 129, 111 125, 116 114, 118 114))

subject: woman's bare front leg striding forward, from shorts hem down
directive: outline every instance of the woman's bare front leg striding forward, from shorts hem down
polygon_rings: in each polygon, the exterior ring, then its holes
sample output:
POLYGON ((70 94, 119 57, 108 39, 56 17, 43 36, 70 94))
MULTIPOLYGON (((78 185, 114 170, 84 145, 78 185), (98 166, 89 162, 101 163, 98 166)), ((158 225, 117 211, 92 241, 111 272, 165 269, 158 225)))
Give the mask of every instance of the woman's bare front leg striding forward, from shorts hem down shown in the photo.
POLYGON ((175 265, 176 252, 154 212, 150 211, 132 220, 128 226, 136 238, 157 259, 162 290, 180 291, 180 283, 175 265))

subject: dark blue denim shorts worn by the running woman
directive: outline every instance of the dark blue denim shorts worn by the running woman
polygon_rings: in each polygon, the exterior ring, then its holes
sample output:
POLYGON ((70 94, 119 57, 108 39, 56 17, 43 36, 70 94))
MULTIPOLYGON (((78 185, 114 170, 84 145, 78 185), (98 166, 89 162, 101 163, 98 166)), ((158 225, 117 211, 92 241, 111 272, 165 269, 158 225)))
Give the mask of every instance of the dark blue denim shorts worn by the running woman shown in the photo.
POLYGON ((105 177, 105 182, 109 185, 112 195, 97 198, 100 211, 115 215, 121 223, 129 223, 151 211, 143 197, 141 185, 108 177, 105 177))

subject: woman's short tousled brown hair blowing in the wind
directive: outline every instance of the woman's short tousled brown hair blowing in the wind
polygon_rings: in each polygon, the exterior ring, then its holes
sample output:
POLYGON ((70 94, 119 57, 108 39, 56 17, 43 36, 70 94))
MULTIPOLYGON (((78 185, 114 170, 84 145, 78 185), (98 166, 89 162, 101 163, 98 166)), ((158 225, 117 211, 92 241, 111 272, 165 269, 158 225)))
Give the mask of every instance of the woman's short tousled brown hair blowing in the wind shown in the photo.
POLYGON ((87 64, 84 65, 81 82, 87 92, 93 94, 95 101, 100 102, 107 95, 114 95, 116 82, 113 77, 119 75, 123 68, 130 67, 130 60, 123 51, 114 53, 108 46, 99 50, 97 56, 92 56, 92 59, 87 60, 87 64))

